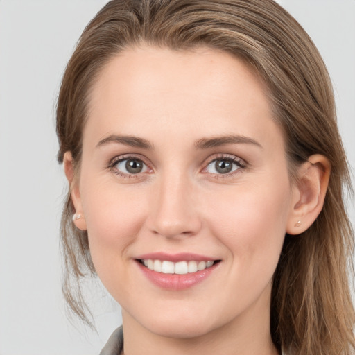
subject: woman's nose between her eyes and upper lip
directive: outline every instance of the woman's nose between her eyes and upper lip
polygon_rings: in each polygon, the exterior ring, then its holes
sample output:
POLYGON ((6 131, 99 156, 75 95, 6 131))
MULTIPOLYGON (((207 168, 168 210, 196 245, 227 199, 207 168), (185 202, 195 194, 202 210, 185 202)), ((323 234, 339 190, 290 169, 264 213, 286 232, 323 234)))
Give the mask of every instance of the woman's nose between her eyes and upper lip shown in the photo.
POLYGON ((169 239, 196 235, 202 223, 194 190, 193 182, 182 175, 157 182, 148 218, 150 230, 169 239))

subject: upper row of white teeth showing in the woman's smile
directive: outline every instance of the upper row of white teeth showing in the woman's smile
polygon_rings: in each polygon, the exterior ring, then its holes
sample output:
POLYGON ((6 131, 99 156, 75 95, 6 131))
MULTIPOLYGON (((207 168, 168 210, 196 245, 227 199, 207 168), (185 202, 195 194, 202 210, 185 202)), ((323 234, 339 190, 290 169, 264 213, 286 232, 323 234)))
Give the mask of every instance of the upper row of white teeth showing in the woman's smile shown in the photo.
POLYGON ((163 274, 186 275, 187 273, 193 273, 205 270, 205 268, 210 268, 214 264, 214 261, 179 261, 178 263, 173 263, 172 261, 166 260, 161 261, 144 259, 142 260, 142 263, 149 270, 163 272, 163 274))

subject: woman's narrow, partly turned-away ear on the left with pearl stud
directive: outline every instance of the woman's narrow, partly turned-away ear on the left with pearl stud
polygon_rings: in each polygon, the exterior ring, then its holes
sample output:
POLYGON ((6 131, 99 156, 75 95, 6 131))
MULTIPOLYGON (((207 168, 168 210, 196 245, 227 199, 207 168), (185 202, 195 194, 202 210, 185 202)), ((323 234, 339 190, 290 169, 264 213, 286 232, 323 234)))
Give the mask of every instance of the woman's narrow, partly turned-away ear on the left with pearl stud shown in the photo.
POLYGON ((75 176, 73 157, 71 155, 71 152, 64 153, 63 166, 64 166, 65 176, 67 177, 67 180, 69 182, 71 201, 73 202, 73 206, 76 212, 73 216, 73 223, 80 230, 87 230, 84 211, 81 204, 78 179, 75 176))

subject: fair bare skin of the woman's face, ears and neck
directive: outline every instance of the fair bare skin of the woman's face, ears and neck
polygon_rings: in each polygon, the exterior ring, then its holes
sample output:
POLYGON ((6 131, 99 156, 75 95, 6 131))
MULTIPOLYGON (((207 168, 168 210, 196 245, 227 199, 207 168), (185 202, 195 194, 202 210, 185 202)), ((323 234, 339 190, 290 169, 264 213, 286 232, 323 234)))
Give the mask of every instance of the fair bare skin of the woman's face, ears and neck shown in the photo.
POLYGON ((76 226, 88 231, 98 277, 122 307, 125 354, 277 354, 272 275, 285 233, 318 216, 330 167, 310 157, 291 183, 265 91, 241 60, 206 48, 126 49, 94 83, 80 173, 69 152, 64 167, 83 216, 76 226), (118 135, 150 148, 107 140, 118 135), (231 135, 239 141, 201 144, 231 135), (141 173, 110 166, 128 156, 144 162, 141 173), (218 173, 216 159, 241 166, 218 173), (168 291, 139 270, 135 258, 148 252, 220 263, 199 284, 168 291))

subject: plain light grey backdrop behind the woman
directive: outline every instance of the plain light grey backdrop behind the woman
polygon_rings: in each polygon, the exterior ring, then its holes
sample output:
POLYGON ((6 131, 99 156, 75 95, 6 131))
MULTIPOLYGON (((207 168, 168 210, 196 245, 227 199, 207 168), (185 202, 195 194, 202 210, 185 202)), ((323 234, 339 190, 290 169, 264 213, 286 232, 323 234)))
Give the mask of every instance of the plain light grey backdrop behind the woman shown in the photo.
MULTIPOLYGON (((121 324, 119 306, 99 283, 87 292, 97 333, 69 322, 60 291, 66 184, 56 162, 55 99, 81 31, 106 2, 0 0, 0 355, 98 354, 121 324)), ((279 3, 329 68, 354 167, 355 0, 279 3)))

